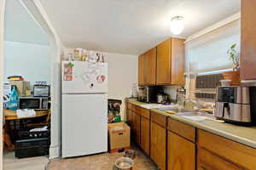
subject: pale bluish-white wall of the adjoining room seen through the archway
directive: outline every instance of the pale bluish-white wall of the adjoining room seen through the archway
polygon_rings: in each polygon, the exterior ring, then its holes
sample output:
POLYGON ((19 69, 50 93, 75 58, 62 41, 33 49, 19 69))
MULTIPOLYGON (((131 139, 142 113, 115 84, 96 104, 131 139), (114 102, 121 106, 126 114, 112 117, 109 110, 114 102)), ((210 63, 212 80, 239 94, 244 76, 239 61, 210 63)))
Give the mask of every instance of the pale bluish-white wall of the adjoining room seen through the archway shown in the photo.
POLYGON ((20 75, 33 84, 37 81, 50 82, 49 45, 4 42, 4 80, 20 75))

